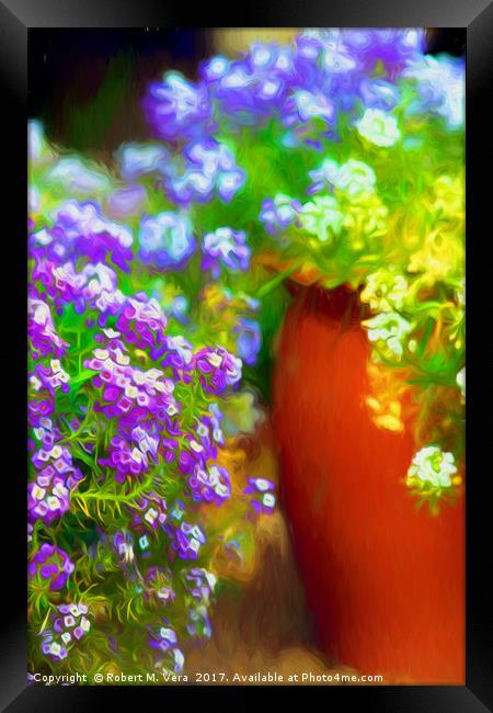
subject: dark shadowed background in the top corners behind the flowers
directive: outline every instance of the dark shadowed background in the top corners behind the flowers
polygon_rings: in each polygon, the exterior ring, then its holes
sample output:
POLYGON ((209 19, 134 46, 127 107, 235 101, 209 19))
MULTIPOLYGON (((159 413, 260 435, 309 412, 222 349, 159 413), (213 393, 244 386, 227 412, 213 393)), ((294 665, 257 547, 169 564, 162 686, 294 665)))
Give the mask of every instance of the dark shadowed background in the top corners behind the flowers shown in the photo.
MULTIPOLYGON (((465 53, 463 27, 429 29, 427 37, 431 54, 465 53)), ((219 44, 209 30, 30 30, 28 115, 50 140, 107 158, 123 142, 149 138, 140 106, 149 81, 171 68, 194 78, 219 44)))

